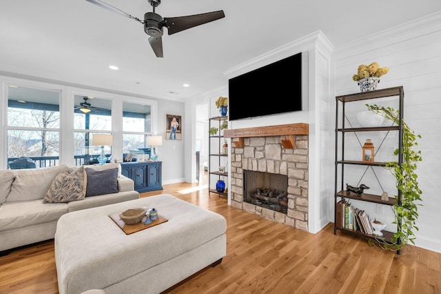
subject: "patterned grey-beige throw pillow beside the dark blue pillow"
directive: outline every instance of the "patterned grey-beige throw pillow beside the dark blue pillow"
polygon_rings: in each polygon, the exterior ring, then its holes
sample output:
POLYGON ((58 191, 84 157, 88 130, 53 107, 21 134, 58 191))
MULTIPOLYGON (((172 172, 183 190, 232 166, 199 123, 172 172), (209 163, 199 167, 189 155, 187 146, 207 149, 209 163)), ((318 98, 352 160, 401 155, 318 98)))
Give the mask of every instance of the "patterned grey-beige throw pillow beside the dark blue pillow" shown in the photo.
POLYGON ((86 173, 83 166, 73 173, 63 170, 50 185, 43 203, 59 203, 83 200, 86 190, 86 173))

